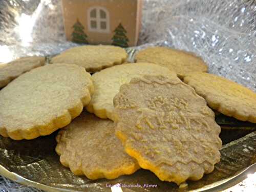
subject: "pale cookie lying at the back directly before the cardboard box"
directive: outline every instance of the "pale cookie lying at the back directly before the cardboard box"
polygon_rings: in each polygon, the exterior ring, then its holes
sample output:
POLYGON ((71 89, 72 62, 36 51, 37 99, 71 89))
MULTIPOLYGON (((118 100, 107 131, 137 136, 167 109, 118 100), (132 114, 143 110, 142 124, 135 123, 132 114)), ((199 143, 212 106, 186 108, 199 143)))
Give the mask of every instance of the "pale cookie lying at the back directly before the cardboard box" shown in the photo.
POLYGON ((127 53, 115 46, 80 46, 71 48, 51 59, 52 63, 72 63, 86 68, 89 73, 122 64, 127 53))

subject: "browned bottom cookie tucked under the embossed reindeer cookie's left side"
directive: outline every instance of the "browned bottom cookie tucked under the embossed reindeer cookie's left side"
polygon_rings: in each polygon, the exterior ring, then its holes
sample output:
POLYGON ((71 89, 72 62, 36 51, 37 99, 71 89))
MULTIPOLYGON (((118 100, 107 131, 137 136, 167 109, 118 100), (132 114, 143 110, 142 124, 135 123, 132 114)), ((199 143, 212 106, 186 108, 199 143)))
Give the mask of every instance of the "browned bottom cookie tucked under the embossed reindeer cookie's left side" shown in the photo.
POLYGON ((138 162, 124 152, 115 136, 115 123, 109 119, 82 112, 59 131, 56 140, 60 162, 75 175, 115 179, 140 168, 138 162))

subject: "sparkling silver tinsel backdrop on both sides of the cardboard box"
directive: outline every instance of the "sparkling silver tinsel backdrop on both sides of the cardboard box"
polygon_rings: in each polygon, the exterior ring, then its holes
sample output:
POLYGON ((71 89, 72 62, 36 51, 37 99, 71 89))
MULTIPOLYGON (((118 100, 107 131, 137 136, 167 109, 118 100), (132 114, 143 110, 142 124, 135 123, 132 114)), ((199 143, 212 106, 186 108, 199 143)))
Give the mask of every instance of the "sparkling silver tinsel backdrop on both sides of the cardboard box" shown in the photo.
MULTIPOLYGON (((65 41, 60 0, 2 0, 0 6, 0 51, 10 55, 0 62, 77 46, 65 41)), ((144 0, 139 45, 195 52, 210 73, 256 90, 256 1, 144 0)))

